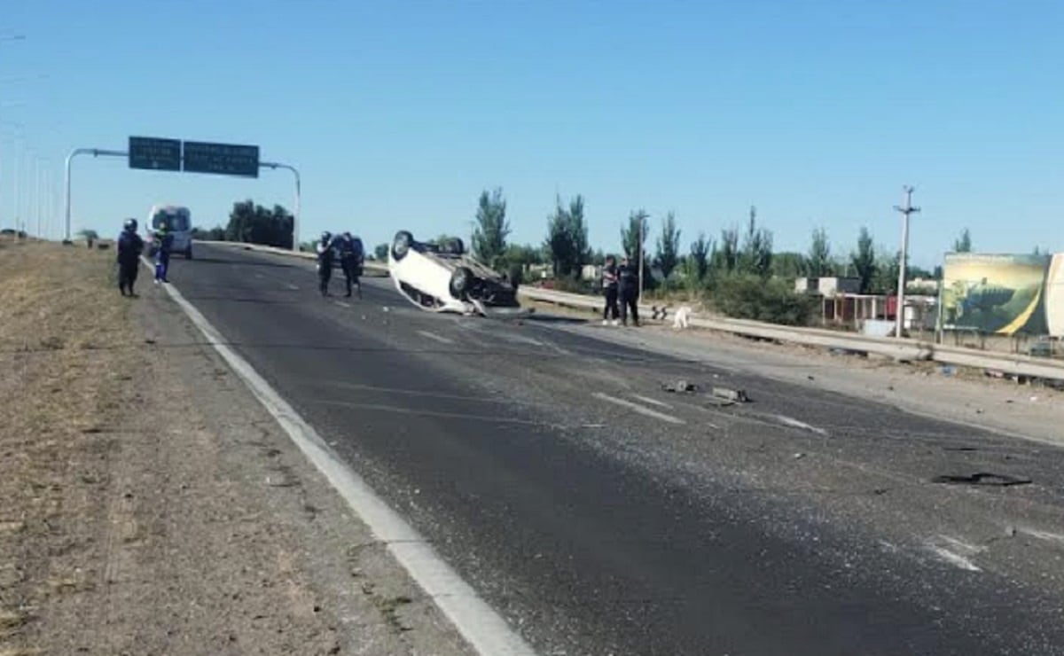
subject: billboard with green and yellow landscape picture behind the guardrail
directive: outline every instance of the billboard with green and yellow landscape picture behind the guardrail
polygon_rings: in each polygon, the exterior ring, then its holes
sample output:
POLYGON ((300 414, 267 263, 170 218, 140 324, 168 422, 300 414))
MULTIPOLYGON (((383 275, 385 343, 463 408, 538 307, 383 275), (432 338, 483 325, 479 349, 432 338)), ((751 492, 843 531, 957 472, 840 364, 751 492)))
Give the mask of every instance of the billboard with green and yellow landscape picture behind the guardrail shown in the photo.
MULTIPOLYGON (((1047 303, 1051 262, 1058 264, 1058 269, 1064 264, 1059 255, 947 254, 943 267, 943 329, 995 335, 1048 334, 1049 316, 1064 322, 1064 289, 1060 283, 1051 285, 1055 290, 1052 305, 1047 303)), ((1058 271, 1058 275, 1064 281, 1064 272, 1058 271)))

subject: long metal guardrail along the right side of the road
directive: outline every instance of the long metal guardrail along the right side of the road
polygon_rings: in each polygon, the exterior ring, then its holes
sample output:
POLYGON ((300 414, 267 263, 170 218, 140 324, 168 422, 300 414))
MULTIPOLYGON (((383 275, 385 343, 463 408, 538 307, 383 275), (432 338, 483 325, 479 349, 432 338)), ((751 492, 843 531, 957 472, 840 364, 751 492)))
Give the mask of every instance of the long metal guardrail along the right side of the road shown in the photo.
MULTIPOLYGON (((286 249, 252 243, 237 243, 234 241, 201 241, 201 243, 240 246, 247 250, 272 252, 310 259, 315 257, 314 253, 296 253, 286 249)), ((387 265, 367 262, 364 268, 367 271, 376 271, 387 275, 387 265)), ((539 289, 536 287, 520 287, 519 295, 533 301, 586 309, 601 308, 603 302, 598 297, 555 291, 553 289, 539 289)), ((639 312, 649 314, 651 306, 641 305, 639 312)), ((944 365, 991 369, 1008 375, 1064 381, 1064 363, 1027 355, 986 353, 963 347, 947 347, 917 339, 871 337, 868 335, 838 333, 824 329, 776 325, 774 323, 744 319, 692 317, 689 322, 691 325, 697 327, 744 335, 746 337, 787 341, 825 349, 842 349, 845 351, 881 355, 898 360, 933 360, 944 365)))

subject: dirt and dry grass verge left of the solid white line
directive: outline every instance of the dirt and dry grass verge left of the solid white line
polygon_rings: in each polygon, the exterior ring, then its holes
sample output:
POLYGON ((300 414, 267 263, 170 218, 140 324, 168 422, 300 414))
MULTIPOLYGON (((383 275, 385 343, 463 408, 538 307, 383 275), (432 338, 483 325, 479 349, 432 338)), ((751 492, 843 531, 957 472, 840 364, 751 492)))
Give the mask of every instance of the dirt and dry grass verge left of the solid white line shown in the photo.
POLYGON ((0 654, 468 654, 166 295, 0 246, 0 654))

